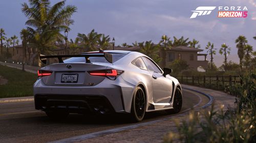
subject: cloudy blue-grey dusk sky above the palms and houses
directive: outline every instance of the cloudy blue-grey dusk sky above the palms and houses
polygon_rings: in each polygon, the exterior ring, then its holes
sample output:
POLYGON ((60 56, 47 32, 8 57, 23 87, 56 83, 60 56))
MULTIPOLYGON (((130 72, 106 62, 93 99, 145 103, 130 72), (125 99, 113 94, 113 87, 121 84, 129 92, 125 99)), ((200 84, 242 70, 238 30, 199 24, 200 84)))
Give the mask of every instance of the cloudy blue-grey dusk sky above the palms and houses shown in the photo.
MULTIPOLYGON (((52 4, 59 0, 51 1, 52 4)), ((21 8, 25 0, 1 0, 0 28, 4 28, 7 37, 19 36, 20 30, 26 28, 28 18, 22 13, 21 8)), ((74 39, 77 33, 88 34, 92 29, 105 35, 115 37, 116 45, 135 41, 150 41, 158 43, 162 35, 184 36, 189 40, 196 39, 204 49, 210 41, 219 51, 221 44, 226 43, 231 47, 228 61, 239 62, 236 43, 239 35, 244 35, 248 44, 256 50, 256 1, 254 0, 194 0, 194 1, 169 1, 169 0, 68 0, 67 5, 77 7, 77 12, 72 16, 75 21, 71 25, 69 39, 74 39), (189 17, 199 6, 217 7, 211 14, 189 17), (246 7, 246 18, 218 18, 218 7, 246 7)), ((214 62, 217 66, 223 63, 223 55, 217 52, 214 62)), ((207 57, 209 60, 209 56, 207 57)))

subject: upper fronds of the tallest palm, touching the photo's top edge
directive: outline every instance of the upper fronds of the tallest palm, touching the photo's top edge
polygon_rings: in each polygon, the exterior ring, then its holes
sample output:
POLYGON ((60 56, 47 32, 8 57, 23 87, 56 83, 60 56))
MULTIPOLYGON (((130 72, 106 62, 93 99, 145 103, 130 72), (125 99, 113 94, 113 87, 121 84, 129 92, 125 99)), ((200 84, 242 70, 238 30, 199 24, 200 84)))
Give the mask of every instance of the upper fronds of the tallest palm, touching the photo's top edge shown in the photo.
POLYGON ((29 0, 27 3, 22 4, 22 12, 29 17, 26 24, 29 27, 29 31, 36 28, 37 31, 43 31, 45 28, 50 30, 58 30, 63 32, 70 30, 69 25, 74 23, 71 16, 76 12, 75 6, 68 5, 65 7, 66 1, 58 2, 51 7, 49 0, 29 0))

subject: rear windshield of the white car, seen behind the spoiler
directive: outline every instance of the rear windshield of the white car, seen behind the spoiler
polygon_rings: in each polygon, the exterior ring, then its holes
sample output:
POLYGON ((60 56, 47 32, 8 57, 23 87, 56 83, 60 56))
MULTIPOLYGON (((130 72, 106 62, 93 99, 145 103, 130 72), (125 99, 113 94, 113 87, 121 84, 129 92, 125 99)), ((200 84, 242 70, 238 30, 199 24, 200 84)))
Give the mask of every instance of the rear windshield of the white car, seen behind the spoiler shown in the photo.
MULTIPOLYGON (((124 55, 123 53, 110 53, 112 54, 112 58, 113 58, 113 63, 115 63, 117 60, 123 58, 124 55)), ((108 61, 106 61, 106 59, 104 57, 90 57, 89 58, 90 61, 93 62, 99 62, 99 63, 109 63, 108 61)), ((73 58, 69 58, 67 60, 63 61, 64 63, 85 63, 86 62, 86 58, 84 57, 73 57, 73 58)))

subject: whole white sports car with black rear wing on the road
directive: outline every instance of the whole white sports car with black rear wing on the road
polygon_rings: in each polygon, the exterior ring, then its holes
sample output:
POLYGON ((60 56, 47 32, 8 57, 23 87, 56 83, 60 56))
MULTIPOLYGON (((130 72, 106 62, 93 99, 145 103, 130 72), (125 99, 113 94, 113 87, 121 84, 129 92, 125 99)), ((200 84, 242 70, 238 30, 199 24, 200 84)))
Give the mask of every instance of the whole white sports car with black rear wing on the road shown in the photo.
POLYGON ((50 118, 69 113, 130 113, 142 121, 145 112, 182 107, 179 81, 148 56, 134 51, 106 50, 79 55, 40 55, 46 63, 59 63, 38 70, 34 83, 35 108, 50 118), (62 60, 62 58, 69 58, 62 60))

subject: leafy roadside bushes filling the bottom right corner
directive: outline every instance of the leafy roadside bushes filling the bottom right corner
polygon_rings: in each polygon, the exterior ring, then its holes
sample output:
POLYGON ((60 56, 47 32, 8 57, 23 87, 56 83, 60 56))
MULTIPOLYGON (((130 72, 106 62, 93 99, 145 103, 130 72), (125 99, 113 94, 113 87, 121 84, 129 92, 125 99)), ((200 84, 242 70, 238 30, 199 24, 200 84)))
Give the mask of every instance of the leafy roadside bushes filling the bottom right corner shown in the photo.
POLYGON ((213 104, 209 110, 191 111, 188 121, 175 121, 178 132, 167 133, 163 142, 256 142, 256 74, 244 74, 243 84, 227 91, 236 96, 234 109, 213 104))

